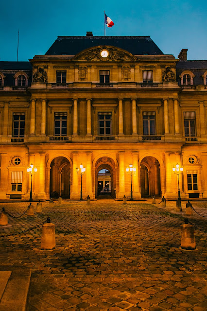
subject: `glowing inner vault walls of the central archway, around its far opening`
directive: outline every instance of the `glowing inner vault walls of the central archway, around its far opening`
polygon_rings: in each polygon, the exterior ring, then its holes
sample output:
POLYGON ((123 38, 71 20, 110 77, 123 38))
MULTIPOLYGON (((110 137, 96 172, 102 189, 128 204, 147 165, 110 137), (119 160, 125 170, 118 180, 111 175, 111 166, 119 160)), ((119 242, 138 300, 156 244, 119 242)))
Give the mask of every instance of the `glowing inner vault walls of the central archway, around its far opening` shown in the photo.
MULTIPOLYGON (((98 195, 98 173, 101 170, 106 170, 110 173, 110 194, 112 197, 115 197, 115 191, 116 191, 116 171, 115 171, 115 163, 110 157, 100 157, 96 163, 95 163, 95 196, 97 197, 98 195)), ((103 184, 103 189, 106 188, 104 187, 105 185, 103 184)))

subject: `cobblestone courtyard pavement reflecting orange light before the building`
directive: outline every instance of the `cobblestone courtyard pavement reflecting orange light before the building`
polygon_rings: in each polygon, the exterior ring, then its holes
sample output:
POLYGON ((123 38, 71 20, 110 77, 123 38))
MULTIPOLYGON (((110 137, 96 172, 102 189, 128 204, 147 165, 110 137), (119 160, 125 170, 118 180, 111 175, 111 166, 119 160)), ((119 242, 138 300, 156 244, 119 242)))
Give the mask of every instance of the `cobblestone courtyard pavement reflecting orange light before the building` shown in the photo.
MULTIPOLYGON (((44 202, 34 217, 9 217, 0 236, 15 235, 0 239, 0 264, 31 267, 28 311, 206 311, 206 218, 189 216, 204 231, 195 227, 197 250, 184 251, 179 246, 185 211, 172 201, 167 207, 151 202, 44 202), (48 216, 56 248, 43 251, 41 226, 29 228, 48 216)), ((2 203, 0 210, 19 216, 27 205, 2 203)), ((192 205, 207 216, 207 202, 192 205)))

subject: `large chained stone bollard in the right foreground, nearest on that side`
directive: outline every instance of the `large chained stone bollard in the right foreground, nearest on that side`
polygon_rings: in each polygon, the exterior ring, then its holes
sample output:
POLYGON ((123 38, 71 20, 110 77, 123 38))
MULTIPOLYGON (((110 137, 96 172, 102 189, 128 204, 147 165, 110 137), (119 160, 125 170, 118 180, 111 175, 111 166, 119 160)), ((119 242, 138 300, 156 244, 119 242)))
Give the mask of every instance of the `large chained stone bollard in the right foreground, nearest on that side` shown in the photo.
POLYGON ((194 228, 189 224, 188 218, 185 218, 185 224, 180 226, 181 230, 181 248, 182 249, 196 249, 194 228))

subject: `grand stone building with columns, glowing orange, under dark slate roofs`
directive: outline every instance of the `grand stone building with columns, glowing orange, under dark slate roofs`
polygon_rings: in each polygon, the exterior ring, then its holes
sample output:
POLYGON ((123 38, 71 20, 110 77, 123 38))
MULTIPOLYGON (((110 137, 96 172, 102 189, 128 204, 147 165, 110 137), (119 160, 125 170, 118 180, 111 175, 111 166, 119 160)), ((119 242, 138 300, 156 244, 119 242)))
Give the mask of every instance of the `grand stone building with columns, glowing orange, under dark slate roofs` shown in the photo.
POLYGON ((207 61, 149 36, 58 36, 45 55, 0 62, 0 199, 207 198, 207 61), (105 187, 105 186, 103 186, 105 187))

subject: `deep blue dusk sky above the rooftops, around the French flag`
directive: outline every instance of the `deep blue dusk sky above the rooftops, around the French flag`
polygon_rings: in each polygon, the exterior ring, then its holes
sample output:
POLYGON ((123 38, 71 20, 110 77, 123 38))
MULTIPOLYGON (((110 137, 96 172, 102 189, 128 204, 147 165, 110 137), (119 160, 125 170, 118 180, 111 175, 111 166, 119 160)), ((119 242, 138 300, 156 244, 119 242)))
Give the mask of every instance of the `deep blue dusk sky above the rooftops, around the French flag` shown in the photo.
POLYGON ((106 35, 150 35, 164 54, 207 59, 206 0, 7 0, 0 4, 0 61, 45 54, 58 35, 104 35, 104 10, 114 26, 106 35))

